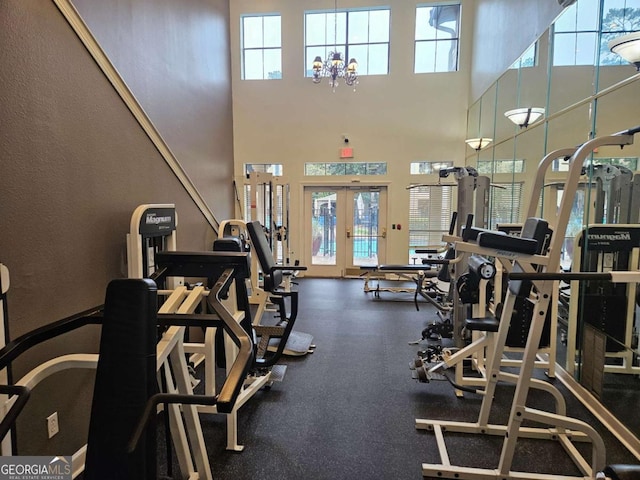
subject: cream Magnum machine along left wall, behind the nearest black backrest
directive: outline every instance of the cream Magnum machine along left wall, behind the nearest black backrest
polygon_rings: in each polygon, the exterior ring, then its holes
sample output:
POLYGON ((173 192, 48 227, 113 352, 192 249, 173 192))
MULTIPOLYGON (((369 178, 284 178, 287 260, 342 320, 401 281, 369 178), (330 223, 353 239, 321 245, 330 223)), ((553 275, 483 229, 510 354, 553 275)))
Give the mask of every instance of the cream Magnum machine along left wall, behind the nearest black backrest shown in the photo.
MULTIPOLYGON (((168 259, 173 258, 177 243, 177 215, 175 212, 175 206, 173 204, 145 204, 138 206, 131 216, 131 231, 127 235, 127 244, 129 246, 127 258, 129 261, 128 270, 136 278, 154 277, 162 268, 167 268, 166 262, 168 259), (171 252, 174 252, 173 254, 171 252)), ((221 231, 225 228, 221 224, 221 231)), ((236 252, 202 252, 203 258, 208 253, 216 253, 217 255, 244 255, 247 258, 246 277, 242 282, 234 282, 230 286, 229 299, 223 299, 225 311, 229 311, 231 316, 237 323, 240 323, 243 328, 255 335, 257 327, 253 325, 251 320, 252 314, 249 306, 249 296, 247 291, 247 282, 249 281, 250 274, 255 269, 251 269, 249 254, 242 253, 239 250, 236 252)), ((184 259, 189 258, 188 255, 183 255, 184 259)), ((197 258, 197 257, 196 257, 197 258)), ((206 265, 206 264, 205 264, 206 265)), ((183 313, 195 313, 196 311, 203 311, 205 313, 218 313, 215 310, 217 307, 215 304, 207 305, 203 303, 206 298, 206 292, 213 285, 215 278, 219 275, 219 272, 215 267, 213 271, 209 272, 206 266, 193 265, 190 267, 192 271, 188 271, 189 275, 178 275, 177 268, 174 268, 172 275, 166 275, 165 285, 163 289, 159 291, 159 294, 165 298, 165 304, 161 307, 160 313, 169 313, 167 308, 173 308, 176 301, 183 299, 185 296, 192 297, 192 303, 187 308, 186 305, 182 306, 183 313), (200 269, 200 270, 198 270, 200 269), (189 282, 185 281, 185 277, 191 277, 189 282), (199 292, 199 293, 198 293, 199 292), (196 301, 198 300, 198 301, 196 301), (185 310, 186 309, 186 310, 185 310), (213 310, 212 310, 213 309, 213 310)), ((181 304, 180 304, 181 305, 181 304)), ((291 323, 291 327, 293 322, 291 323)), ((261 332, 265 339, 269 339, 272 336, 280 336, 285 339, 291 333, 291 327, 283 328, 278 332, 266 331, 261 332)), ((218 357, 224 357, 223 363, 226 364, 227 369, 231 368, 233 359, 237 355, 237 349, 233 342, 229 338, 223 337, 222 342, 216 342, 215 328, 195 329, 195 333, 202 332, 204 337, 202 341, 191 341, 191 335, 189 340, 184 342, 184 351, 188 355, 189 359, 189 371, 191 372, 192 386, 195 385, 197 379, 195 378, 195 367, 200 364, 204 364, 204 392, 206 395, 213 395, 216 391, 216 365, 218 357), (202 331, 204 330, 204 331, 202 331), (218 352, 224 350, 224 354, 216 354, 216 347, 218 352), (223 347, 223 348, 221 348, 223 347)), ((183 330, 182 335, 185 335, 187 331, 183 330)), ((193 332, 191 332, 193 333, 193 332)), ((257 340, 254 338, 254 340, 257 340)), ((256 348, 256 361, 251 367, 250 374, 246 377, 242 392, 236 402, 235 408, 230 412, 226 412, 227 422, 227 449, 233 451, 242 451, 244 446, 238 443, 238 412, 239 409, 258 391, 263 387, 270 387, 274 381, 281 381, 284 376, 285 366, 276 365, 282 351, 276 350, 273 355, 266 355, 264 349, 258 350, 256 348)), ((201 406, 199 411, 202 413, 219 413, 216 406, 201 406)))

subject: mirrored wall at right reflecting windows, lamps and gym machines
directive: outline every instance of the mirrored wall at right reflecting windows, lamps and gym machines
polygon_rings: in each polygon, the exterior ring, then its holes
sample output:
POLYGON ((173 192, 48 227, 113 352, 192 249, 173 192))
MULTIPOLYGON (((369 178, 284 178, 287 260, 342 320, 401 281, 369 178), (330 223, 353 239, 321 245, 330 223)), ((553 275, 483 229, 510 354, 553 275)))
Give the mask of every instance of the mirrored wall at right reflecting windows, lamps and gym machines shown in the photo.
MULTIPOLYGON (((541 198, 532 199, 545 155, 640 125, 640 73, 608 47, 610 40, 638 30, 638 0, 578 0, 470 107, 467 138, 491 143, 468 148, 466 164, 503 187, 492 189, 491 228, 523 222, 530 203, 537 216, 555 215, 568 162, 554 161, 541 198), (529 115, 524 125, 505 115, 529 108, 527 113, 543 113, 537 119, 529 115)), ((639 269, 640 134, 636 137, 624 149, 598 148, 586 159, 571 193, 565 270, 639 269), (599 244, 607 235, 617 240, 599 244)), ((640 438, 640 416, 628 414, 640 405, 638 302, 635 284, 560 285, 557 358, 640 438)))

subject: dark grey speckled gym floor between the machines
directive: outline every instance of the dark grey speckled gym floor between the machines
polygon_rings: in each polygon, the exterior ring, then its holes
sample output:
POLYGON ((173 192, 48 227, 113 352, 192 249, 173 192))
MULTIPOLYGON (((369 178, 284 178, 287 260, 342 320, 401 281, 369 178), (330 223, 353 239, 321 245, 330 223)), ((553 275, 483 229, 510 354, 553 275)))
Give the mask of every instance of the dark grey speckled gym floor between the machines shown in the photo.
MULTIPOLYGON (((408 294, 381 293, 376 299, 363 292, 362 280, 305 278, 299 290, 296 328, 314 336, 316 352, 288 357, 284 381, 240 410, 242 453, 224 449, 221 415, 202 415, 215 478, 422 478, 421 463, 439 463, 439 456, 433 434, 417 431, 415 419, 475 421, 482 401, 473 394, 457 398, 444 381, 411 379, 409 361, 419 347, 408 342, 420 338, 435 312, 424 304, 416 311, 408 294)), ((506 422, 511 393, 511 387, 498 389, 493 422, 506 422)), ((608 463, 635 461, 578 402, 568 403, 570 414, 598 427, 608 463)), ((531 406, 549 404, 548 398, 530 399, 531 406)), ((497 466, 501 439, 447 439, 453 464, 497 466)), ((542 441, 522 441, 513 468, 578 473, 559 445, 542 441)))

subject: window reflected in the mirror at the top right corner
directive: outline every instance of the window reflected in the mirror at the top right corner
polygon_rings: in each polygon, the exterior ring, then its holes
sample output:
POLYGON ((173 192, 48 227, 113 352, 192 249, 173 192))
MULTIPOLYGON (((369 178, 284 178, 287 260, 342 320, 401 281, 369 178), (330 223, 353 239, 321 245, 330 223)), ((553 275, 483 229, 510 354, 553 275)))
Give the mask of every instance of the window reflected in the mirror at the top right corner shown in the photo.
POLYGON ((553 65, 620 65, 609 40, 640 30, 638 0, 580 0, 553 26, 553 65))

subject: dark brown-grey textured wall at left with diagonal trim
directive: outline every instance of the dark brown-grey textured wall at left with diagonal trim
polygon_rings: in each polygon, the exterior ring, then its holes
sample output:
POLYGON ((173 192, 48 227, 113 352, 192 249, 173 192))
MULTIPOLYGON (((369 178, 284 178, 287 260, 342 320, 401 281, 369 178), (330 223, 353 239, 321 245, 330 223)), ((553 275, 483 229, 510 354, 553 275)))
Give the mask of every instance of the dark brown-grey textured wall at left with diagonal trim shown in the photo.
MULTIPOLYGON (((213 212, 226 218, 228 2, 79 6, 95 13, 103 30, 96 36, 213 212)), ((107 283, 126 273, 125 235, 137 205, 175 203, 181 249, 207 248, 212 230, 53 2, 0 2, 0 46, 0 262, 11 272, 15 338, 104 301, 107 283)), ((95 350, 98 335, 89 328, 33 349, 15 376, 61 352, 95 350)), ((35 426, 19 429, 19 453, 71 454, 82 444, 75 423, 87 413, 78 399, 89 398, 90 378, 55 383, 63 394, 46 385, 34 392, 23 417, 35 426), (53 410, 61 433, 47 441, 44 418, 53 410)))

